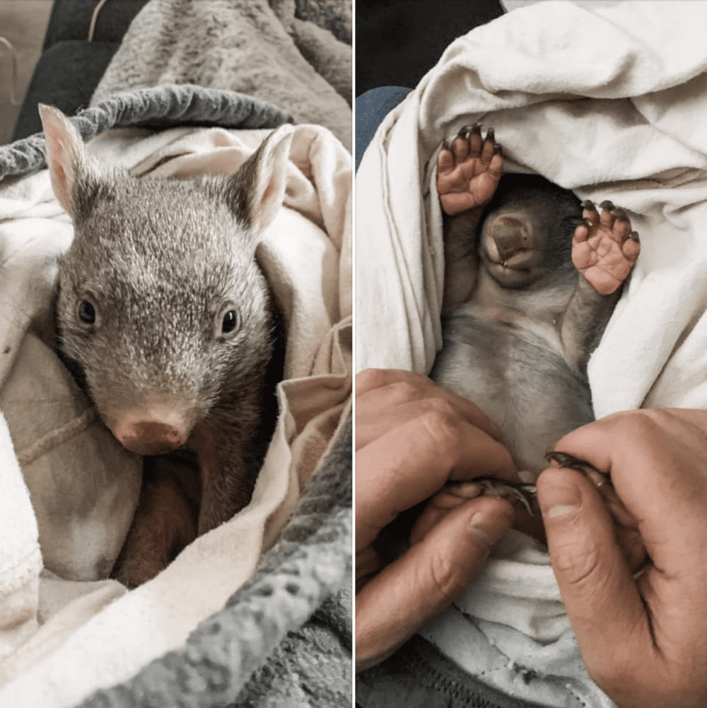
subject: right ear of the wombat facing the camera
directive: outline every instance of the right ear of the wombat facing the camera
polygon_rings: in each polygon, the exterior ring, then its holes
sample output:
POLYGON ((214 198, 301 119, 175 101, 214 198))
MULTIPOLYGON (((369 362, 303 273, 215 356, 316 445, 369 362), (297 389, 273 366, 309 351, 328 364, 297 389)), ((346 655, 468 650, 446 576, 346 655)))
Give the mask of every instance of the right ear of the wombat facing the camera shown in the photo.
POLYGON ((282 206, 294 129, 282 125, 227 182, 227 198, 237 217, 263 232, 282 206))

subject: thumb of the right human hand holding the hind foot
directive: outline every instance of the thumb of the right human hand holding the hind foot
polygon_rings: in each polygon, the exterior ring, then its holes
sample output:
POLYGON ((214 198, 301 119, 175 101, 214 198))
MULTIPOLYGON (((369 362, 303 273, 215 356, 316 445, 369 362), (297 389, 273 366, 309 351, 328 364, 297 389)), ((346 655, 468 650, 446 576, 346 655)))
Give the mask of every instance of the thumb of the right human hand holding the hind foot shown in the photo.
POLYGON ((562 600, 584 663, 601 686, 627 653, 652 648, 643 601, 592 483, 575 470, 550 467, 536 484, 562 600))

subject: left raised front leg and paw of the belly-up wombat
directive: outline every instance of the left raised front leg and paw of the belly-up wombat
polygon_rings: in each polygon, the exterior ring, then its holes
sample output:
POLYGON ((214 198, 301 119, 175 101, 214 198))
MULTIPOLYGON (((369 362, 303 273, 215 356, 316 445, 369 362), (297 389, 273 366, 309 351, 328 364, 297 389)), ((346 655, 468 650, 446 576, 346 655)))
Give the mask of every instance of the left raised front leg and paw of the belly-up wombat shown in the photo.
POLYGON ((437 158, 437 192, 444 219, 443 312, 465 302, 474 290, 479 259, 476 231, 484 206, 501 178, 503 159, 489 128, 463 127, 437 158))

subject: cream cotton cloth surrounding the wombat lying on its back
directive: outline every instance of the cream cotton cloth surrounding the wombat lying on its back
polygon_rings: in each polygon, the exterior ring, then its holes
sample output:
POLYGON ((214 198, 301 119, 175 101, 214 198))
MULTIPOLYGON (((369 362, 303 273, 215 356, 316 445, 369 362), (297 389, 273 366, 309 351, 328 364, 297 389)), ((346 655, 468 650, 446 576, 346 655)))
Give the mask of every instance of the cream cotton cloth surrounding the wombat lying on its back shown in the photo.
MULTIPOLYGON (((630 285, 589 364, 596 416, 706 407, 706 27, 705 3, 558 1, 453 42, 358 170, 356 368, 429 372, 444 275, 436 156, 443 138, 482 122, 507 171, 610 199, 640 233, 630 285)), ((512 534, 494 555, 422 634, 510 695, 611 704, 584 673, 547 555, 512 534)))

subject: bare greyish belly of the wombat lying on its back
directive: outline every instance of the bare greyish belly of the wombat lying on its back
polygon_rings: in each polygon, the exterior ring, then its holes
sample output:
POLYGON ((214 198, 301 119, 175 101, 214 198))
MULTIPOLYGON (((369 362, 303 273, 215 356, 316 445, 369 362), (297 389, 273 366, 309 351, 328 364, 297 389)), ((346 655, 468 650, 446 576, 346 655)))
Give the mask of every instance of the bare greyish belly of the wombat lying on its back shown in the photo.
POLYGON ((431 377, 473 401, 502 430, 519 469, 539 474, 562 435, 594 420, 589 384, 548 338, 502 321, 453 314, 431 377))

